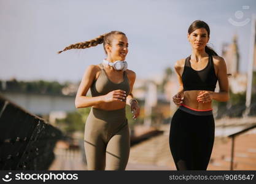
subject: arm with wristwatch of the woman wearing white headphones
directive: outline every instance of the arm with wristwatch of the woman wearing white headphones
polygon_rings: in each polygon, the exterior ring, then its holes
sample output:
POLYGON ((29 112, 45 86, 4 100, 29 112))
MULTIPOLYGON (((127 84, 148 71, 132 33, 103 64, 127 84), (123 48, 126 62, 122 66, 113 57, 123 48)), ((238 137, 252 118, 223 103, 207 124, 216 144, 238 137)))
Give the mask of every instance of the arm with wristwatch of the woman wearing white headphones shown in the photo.
POLYGON ((131 93, 133 91, 133 85, 136 79, 136 74, 131 70, 127 70, 126 74, 130 83, 130 93, 126 98, 126 104, 131 106, 131 112, 134 114, 133 118, 136 119, 139 116, 140 109, 138 101, 136 101, 136 99, 133 98, 133 94, 131 93))

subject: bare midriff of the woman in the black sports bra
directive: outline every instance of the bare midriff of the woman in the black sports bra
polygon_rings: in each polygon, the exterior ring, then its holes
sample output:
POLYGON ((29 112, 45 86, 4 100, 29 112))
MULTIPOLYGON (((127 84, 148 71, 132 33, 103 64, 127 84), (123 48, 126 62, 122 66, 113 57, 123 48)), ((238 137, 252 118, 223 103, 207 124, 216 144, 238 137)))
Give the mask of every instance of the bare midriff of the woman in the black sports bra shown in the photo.
POLYGON ((197 96, 199 95, 200 91, 202 90, 184 91, 184 99, 182 104, 197 110, 212 109, 212 102, 203 103, 197 101, 197 96))

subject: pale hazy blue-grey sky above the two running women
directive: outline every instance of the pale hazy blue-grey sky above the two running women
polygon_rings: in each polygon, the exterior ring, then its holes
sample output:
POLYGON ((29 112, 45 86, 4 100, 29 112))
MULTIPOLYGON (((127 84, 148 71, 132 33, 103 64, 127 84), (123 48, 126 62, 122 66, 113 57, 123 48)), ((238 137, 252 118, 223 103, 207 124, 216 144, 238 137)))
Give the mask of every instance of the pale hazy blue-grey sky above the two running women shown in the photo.
POLYGON ((113 30, 128 37, 128 68, 151 78, 191 54, 187 29, 194 20, 208 23, 209 44, 219 55, 238 35, 246 73, 251 21, 235 26, 228 19, 239 23, 252 13, 255 0, 0 0, 0 80, 79 82, 90 64, 106 57, 103 45, 57 52, 113 30))

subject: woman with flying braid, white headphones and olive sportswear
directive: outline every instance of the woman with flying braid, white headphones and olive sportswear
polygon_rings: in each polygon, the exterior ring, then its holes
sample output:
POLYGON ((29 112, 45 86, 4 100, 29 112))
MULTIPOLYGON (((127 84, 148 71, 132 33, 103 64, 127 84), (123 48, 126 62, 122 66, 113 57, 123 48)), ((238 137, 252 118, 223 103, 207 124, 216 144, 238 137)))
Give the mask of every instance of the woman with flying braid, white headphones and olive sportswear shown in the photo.
POLYGON ((131 94, 136 74, 126 69, 127 37, 120 31, 111 31, 93 40, 69 45, 63 51, 98 44, 103 44, 107 58, 103 59, 103 63, 90 65, 85 70, 75 101, 76 108, 92 107, 85 123, 87 168, 125 170, 130 153, 125 105, 131 106, 134 119, 140 111, 138 102, 131 94), (89 88, 91 97, 86 96, 89 88))

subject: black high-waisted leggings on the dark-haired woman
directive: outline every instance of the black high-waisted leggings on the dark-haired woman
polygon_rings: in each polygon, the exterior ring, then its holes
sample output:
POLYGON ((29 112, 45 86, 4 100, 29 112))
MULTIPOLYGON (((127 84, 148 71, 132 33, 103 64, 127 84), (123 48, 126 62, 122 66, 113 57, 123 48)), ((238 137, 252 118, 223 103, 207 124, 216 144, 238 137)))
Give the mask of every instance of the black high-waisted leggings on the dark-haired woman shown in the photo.
POLYGON ((212 115, 177 109, 171 120, 169 146, 177 170, 206 170, 214 144, 212 115))

